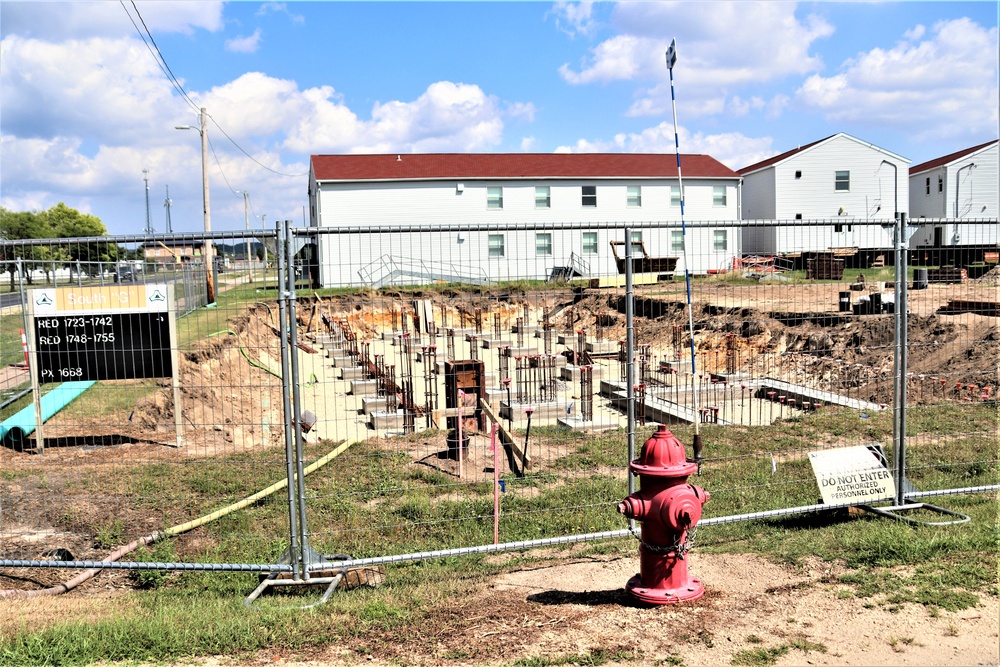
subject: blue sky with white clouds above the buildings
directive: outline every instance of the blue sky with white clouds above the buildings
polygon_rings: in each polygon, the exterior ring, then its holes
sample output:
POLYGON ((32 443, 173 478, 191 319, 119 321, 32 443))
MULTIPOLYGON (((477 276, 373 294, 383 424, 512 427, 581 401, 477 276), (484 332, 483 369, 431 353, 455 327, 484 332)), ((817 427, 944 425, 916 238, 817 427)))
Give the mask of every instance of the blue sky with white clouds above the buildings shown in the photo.
POLYGON ((302 224, 309 155, 667 152, 739 169, 846 132, 912 164, 998 136, 992 2, 0 3, 0 205, 111 233, 302 224), (141 27, 141 24, 140 24, 141 27), (232 138, 230 141, 226 135, 232 138), (248 154, 250 157, 248 157, 248 154))

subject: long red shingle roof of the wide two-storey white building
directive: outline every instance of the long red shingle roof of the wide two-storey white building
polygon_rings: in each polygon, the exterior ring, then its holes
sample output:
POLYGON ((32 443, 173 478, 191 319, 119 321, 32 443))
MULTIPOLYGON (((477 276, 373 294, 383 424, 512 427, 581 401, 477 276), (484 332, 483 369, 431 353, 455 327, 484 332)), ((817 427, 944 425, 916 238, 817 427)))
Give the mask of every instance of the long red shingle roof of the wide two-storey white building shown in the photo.
MULTIPOLYGON (((313 155, 317 181, 676 178, 673 153, 402 153, 313 155)), ((684 176, 739 178, 708 155, 681 155, 684 176)))

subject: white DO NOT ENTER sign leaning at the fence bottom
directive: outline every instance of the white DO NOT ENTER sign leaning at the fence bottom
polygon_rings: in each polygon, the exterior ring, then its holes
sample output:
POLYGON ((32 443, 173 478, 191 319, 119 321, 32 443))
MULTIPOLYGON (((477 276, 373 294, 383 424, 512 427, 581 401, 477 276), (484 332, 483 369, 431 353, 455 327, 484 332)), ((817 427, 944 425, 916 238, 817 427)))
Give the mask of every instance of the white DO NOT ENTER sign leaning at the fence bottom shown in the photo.
POLYGON ((866 504, 895 495, 892 473, 864 445, 809 452, 809 462, 824 503, 866 504))

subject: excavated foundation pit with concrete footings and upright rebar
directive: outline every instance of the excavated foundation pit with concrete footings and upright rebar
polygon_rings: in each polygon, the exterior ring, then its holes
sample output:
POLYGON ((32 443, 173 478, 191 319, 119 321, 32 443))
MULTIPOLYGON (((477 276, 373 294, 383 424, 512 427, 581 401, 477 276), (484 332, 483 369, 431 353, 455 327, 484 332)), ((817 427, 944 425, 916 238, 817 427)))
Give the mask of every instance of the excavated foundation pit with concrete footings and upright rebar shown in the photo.
MULTIPOLYGON (((996 339, 995 315, 955 305, 988 300, 993 274, 911 291, 911 402, 994 400, 996 369, 976 350, 996 339)), ((694 346, 683 283, 637 290, 636 424, 748 427, 891 407, 892 283, 859 278, 764 281, 750 304, 731 278, 702 281, 694 346), (862 310, 876 299, 877 313, 862 310)), ((569 453, 560 430, 627 426, 621 288, 303 293, 298 308, 300 340, 314 346, 300 351, 314 380, 302 394, 310 437, 407 436, 415 461, 476 480, 493 465, 494 423, 503 467, 519 475, 569 453)))

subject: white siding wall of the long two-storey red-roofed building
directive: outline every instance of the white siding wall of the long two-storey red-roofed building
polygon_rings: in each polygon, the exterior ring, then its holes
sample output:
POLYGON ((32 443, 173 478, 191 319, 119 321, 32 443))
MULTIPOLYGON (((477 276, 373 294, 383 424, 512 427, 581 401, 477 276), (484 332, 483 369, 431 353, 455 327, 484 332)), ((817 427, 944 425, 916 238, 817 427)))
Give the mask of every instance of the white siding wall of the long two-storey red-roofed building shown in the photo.
MULTIPOLYGON (((621 227, 629 222, 676 221, 680 207, 670 204, 670 185, 676 181, 421 181, 323 183, 317 192, 316 225, 364 228, 374 225, 519 225, 536 230, 426 232, 405 234, 324 235, 320 242, 321 281, 326 286, 357 285, 358 270, 377 265, 381 258, 396 263, 434 263, 442 275, 488 274, 493 280, 543 279, 555 266, 569 264, 570 254, 590 264, 591 275, 616 274, 610 241, 624 240, 621 227), (458 183, 462 183, 459 189, 458 183), (551 207, 535 208, 535 186, 550 188, 551 207), (597 206, 582 203, 582 186, 597 186, 597 206), (642 186, 640 207, 627 206, 627 187, 642 186), (503 208, 487 208, 487 188, 503 187, 503 208), (585 230, 546 230, 546 223, 593 222, 598 235, 597 253, 583 255, 585 230), (600 227, 614 225, 619 229, 600 227), (536 234, 552 234, 552 254, 536 253, 536 234), (504 257, 489 257, 489 235, 504 234, 504 257), (450 273, 449 273, 450 271, 450 273)), ((737 219, 735 178, 724 180, 685 179, 685 217, 697 221, 737 219), (726 205, 716 206, 713 187, 727 189, 726 205)), ((640 231, 640 230, 636 230, 640 231)), ((677 256, 671 252, 669 230, 641 230, 651 256, 677 256)), ((737 230, 728 231, 725 251, 714 250, 713 229, 688 232, 692 272, 729 268, 740 253, 737 230)), ((623 253, 623 250, 621 251, 623 253)), ((683 263, 678 270, 683 271, 683 263)))

